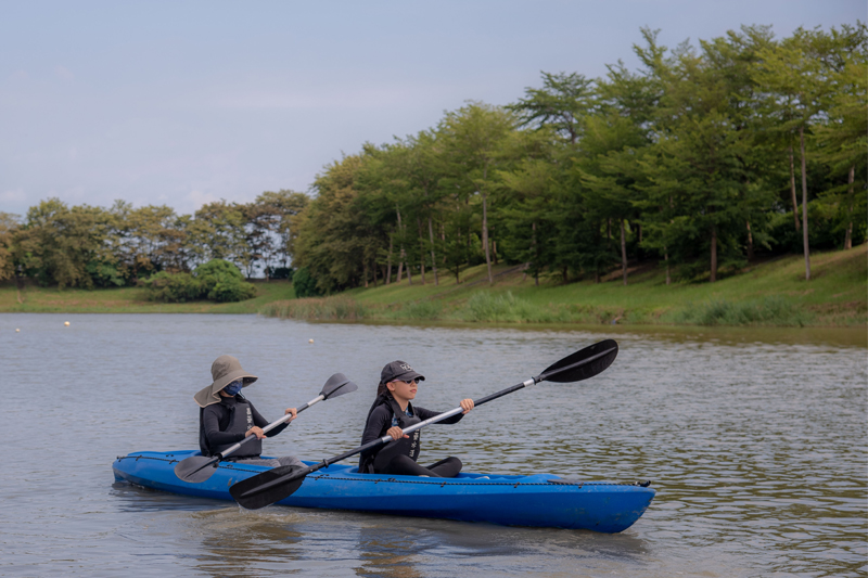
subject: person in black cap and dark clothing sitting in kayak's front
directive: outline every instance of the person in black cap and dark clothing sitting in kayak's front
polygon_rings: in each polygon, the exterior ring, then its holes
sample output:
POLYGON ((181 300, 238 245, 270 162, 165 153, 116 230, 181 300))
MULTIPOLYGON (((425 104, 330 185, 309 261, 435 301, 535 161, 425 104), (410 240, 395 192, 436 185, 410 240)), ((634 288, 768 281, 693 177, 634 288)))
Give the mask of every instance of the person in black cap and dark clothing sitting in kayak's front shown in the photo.
MULTIPOLYGON (((412 432, 412 437, 404 433, 405 427, 438 415, 441 412, 413 407, 410 400, 416 398, 420 381, 424 375, 417 373, 404 361, 393 361, 380 372, 380 386, 376 399, 368 412, 361 444, 368 444, 386 434, 395 441, 379 446, 361 453, 359 472, 363 474, 396 474, 401 476, 455 477, 461 471, 461 460, 446 458, 427 467, 417 463, 421 448, 421 432, 412 432)), ((461 401, 463 413, 446 420, 442 424, 454 424, 461 421, 464 413, 473 409, 473 400, 461 401)))

